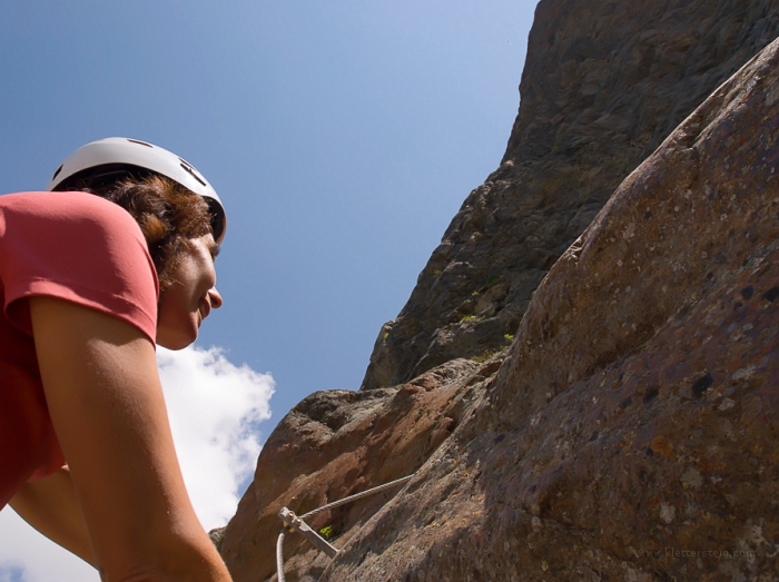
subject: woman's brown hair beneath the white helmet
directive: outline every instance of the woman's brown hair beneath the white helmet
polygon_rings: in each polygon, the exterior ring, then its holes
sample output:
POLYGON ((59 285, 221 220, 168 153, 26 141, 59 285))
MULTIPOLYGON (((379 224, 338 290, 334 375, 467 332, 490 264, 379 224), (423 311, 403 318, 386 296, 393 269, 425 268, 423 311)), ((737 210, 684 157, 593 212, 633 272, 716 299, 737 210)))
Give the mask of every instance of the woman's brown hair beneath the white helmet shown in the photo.
POLYGON ((213 234, 208 204, 180 184, 158 174, 88 184, 68 180, 57 189, 82 190, 111 200, 130 213, 146 238, 157 269, 160 296, 175 283, 174 272, 189 240, 213 234))

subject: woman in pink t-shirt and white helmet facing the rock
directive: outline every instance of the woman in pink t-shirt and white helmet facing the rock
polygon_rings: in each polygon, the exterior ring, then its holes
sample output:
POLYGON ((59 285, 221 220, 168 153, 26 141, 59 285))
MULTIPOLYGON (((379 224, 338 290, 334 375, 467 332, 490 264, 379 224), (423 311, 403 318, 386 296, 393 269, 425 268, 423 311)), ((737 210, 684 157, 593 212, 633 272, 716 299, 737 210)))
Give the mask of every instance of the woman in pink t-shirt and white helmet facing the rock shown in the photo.
POLYGON ((219 197, 126 138, 78 149, 47 190, 0 197, 0 509, 106 581, 229 581, 187 496, 155 359, 221 305, 219 197))

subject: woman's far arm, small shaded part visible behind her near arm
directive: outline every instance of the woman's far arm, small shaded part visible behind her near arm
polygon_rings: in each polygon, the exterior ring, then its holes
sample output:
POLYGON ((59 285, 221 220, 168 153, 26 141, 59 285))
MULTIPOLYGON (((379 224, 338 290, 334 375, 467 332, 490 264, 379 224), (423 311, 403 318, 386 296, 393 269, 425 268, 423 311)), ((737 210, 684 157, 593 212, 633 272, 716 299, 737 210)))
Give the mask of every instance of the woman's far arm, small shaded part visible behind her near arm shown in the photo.
POLYGON ((10 505, 40 533, 95 565, 87 524, 67 466, 46 479, 24 484, 10 505))

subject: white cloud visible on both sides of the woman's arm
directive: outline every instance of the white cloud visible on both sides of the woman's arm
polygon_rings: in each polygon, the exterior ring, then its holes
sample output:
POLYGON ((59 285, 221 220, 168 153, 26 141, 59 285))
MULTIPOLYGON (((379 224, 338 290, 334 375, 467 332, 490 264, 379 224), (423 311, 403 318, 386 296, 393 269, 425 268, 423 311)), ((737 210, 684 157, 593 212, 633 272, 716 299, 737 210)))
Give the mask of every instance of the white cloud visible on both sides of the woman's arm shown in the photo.
MULTIPOLYGON (((238 487, 259 454, 257 423, 270 417, 275 383, 221 349, 158 348, 157 363, 181 472, 204 527, 225 525, 238 487)), ((97 572, 27 525, 0 512, 0 582, 99 582, 97 572)))

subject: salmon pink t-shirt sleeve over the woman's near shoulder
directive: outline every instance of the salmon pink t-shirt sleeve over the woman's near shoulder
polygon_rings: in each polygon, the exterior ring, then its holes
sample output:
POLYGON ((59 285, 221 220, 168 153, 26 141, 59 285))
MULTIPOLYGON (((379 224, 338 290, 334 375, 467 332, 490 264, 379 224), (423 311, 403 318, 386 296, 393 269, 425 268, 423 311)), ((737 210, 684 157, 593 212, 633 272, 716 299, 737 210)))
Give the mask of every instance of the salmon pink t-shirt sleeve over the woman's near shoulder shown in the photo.
POLYGON ((7 317, 32 335, 27 302, 46 295, 122 319, 155 343, 157 274, 144 235, 118 205, 85 193, 0 197, 7 317))

